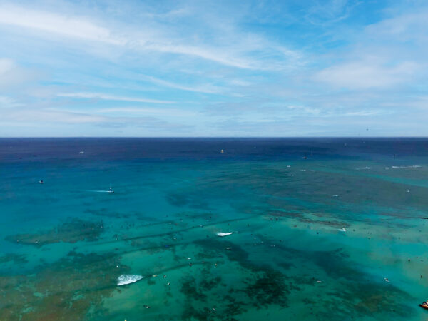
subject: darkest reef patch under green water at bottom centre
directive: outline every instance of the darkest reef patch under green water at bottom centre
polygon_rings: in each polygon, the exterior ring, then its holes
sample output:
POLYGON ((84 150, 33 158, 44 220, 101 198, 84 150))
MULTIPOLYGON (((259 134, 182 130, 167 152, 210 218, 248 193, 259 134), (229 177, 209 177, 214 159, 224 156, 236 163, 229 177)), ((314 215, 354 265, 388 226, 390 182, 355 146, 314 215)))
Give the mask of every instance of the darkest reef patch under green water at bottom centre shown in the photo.
POLYGON ((218 300, 215 315, 209 314, 210 320, 215 316, 221 316, 219 320, 235 320, 234 317, 254 307, 265 308, 269 305, 287 307, 290 291, 299 290, 293 285, 293 281, 279 270, 251 261, 249 253, 235 243, 218 238, 200 239, 195 243, 203 248, 205 257, 223 256, 229 261, 238 263, 243 268, 243 272, 238 275, 243 277, 238 277, 233 284, 226 282, 224 285, 226 294, 221 297, 218 297, 216 291, 220 290, 218 285, 222 285, 222 277, 208 278, 213 275, 208 268, 203 271, 204 277, 200 281, 191 279, 186 282, 182 292, 188 300, 185 309, 187 320, 190 320, 189 316, 198 318, 197 320, 206 320, 210 309, 205 312, 198 310, 198 307, 208 305, 208 298, 217 297, 218 300))

